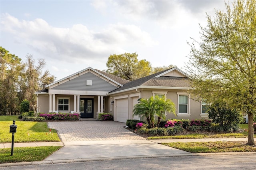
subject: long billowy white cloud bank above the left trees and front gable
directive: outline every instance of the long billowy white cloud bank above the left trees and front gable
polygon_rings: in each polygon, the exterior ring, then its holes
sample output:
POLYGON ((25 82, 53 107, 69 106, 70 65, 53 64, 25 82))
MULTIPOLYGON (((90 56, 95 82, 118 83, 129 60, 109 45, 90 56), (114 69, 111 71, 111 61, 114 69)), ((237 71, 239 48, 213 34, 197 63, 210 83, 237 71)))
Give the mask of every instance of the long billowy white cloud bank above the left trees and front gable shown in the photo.
POLYGON ((71 28, 56 28, 40 18, 20 21, 9 14, 2 14, 1 27, 5 32, 13 34, 17 42, 25 43, 44 56, 70 62, 125 52, 127 44, 157 44, 147 32, 131 24, 110 24, 94 32, 82 24, 75 24, 71 28), (76 59, 71 59, 72 56, 76 59))

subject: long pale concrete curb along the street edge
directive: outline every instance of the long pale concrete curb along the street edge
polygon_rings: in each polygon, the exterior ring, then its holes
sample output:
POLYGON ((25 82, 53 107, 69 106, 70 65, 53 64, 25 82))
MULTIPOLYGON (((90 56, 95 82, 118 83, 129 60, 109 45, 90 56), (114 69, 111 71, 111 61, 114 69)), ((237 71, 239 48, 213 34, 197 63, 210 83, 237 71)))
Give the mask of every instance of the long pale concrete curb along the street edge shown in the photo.
POLYGON ((164 155, 138 155, 138 156, 121 156, 121 157, 102 157, 102 158, 81 158, 81 159, 66 159, 66 160, 42 160, 35 162, 16 162, 0 164, 0 167, 9 166, 26 166, 26 165, 42 165, 42 164, 61 164, 72 162, 90 162, 102 160, 121 160, 121 159, 142 159, 142 158, 164 158, 176 156, 213 156, 213 155, 237 155, 237 154, 255 154, 256 152, 218 152, 218 153, 199 153, 199 154, 164 154, 164 155))

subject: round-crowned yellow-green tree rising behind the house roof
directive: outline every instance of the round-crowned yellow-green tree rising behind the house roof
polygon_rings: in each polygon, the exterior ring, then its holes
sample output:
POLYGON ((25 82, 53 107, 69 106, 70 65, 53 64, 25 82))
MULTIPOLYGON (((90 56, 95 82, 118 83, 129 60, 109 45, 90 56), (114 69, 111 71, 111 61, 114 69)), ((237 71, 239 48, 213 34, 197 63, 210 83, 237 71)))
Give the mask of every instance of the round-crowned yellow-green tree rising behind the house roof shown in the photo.
POLYGON ((134 80, 149 75, 151 64, 146 60, 138 60, 137 53, 110 55, 106 63, 107 72, 126 80, 134 80))

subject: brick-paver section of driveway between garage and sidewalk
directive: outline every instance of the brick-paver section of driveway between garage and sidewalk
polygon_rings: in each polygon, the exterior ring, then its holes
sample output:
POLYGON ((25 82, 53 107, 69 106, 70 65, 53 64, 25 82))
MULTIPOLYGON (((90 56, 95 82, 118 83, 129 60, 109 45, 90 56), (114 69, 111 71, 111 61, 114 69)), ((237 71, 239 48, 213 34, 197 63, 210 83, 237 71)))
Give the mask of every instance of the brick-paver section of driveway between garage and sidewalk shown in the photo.
POLYGON ((121 122, 79 121, 48 122, 48 127, 58 130, 63 142, 97 140, 145 140, 124 128, 121 122))

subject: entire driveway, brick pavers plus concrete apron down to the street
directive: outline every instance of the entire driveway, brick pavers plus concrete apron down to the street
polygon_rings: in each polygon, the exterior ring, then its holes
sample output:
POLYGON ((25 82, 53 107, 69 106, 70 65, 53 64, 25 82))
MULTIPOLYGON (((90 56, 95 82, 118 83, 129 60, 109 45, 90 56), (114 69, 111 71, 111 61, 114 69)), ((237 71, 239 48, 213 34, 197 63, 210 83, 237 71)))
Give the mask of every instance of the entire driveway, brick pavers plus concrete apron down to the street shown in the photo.
POLYGON ((49 128, 58 130, 64 147, 45 161, 79 162, 190 154, 146 140, 124 126, 126 124, 120 122, 49 122, 49 128))

